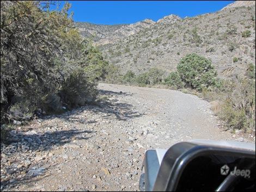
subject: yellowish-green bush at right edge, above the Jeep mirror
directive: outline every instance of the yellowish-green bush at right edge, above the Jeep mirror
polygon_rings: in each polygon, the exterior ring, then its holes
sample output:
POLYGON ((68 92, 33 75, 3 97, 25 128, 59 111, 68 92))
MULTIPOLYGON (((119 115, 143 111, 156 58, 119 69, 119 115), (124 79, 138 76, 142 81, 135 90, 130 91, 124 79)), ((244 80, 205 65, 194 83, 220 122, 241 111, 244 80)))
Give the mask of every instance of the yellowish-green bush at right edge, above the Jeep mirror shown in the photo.
POLYGON ((225 86, 227 98, 218 115, 228 128, 255 131, 255 81, 239 78, 225 86))

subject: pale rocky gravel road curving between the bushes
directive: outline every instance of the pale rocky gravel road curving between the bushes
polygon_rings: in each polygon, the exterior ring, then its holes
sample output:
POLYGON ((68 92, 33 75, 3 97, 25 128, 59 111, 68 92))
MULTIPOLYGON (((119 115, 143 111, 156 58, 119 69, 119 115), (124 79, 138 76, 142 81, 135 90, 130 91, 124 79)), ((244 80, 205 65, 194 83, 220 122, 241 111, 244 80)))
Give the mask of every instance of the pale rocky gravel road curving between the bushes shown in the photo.
POLYGON ((145 151, 234 140, 210 104, 168 89, 99 84, 102 101, 46 116, 1 144, 1 191, 138 191, 145 151))

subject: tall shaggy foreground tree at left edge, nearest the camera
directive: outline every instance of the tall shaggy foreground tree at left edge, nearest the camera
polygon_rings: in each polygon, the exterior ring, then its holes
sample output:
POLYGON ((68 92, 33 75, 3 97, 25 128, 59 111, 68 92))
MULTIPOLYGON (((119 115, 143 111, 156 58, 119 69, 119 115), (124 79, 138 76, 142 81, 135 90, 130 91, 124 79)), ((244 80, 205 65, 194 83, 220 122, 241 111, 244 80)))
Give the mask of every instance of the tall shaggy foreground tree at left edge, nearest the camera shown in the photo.
POLYGON ((69 8, 69 3, 50 11, 39 1, 1 2, 1 121, 15 97, 26 98, 29 103, 22 106, 29 108, 47 92, 58 91, 64 61, 80 51, 69 8))

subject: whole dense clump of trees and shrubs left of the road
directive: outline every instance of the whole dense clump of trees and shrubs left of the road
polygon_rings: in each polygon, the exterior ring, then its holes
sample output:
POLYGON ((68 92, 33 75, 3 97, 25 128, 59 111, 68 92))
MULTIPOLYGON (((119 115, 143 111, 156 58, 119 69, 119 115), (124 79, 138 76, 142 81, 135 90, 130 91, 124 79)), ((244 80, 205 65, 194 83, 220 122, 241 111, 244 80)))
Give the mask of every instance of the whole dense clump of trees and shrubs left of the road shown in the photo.
POLYGON ((95 82, 104 78, 108 63, 92 41, 82 41, 70 7, 1 1, 1 121, 16 119, 12 109, 62 109, 95 97, 95 82))

